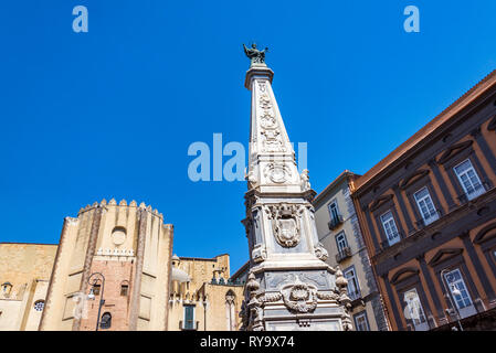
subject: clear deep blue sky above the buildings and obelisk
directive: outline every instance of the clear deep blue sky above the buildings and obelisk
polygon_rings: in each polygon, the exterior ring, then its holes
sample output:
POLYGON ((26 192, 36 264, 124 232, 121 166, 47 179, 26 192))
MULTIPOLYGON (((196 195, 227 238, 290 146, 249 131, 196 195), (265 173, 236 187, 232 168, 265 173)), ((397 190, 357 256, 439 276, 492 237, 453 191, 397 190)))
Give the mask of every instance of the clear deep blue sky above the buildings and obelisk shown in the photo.
POLYGON ((191 182, 187 151, 213 133, 247 146, 243 42, 270 46, 319 192, 496 68, 494 13, 494 0, 1 1, 0 240, 57 243, 88 203, 145 201, 175 224, 175 253, 229 253, 234 270, 247 259, 246 185, 191 182), (72 30, 80 4, 88 33, 72 30), (420 33, 403 30, 409 4, 420 33))

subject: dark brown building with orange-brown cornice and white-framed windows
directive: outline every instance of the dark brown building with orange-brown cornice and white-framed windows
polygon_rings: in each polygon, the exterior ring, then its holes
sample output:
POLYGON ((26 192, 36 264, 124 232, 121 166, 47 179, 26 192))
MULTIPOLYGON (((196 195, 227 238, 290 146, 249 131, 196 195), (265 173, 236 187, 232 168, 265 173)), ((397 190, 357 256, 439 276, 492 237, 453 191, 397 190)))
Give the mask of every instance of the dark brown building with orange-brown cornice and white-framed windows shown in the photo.
POLYGON ((496 72, 356 181, 393 330, 496 329, 495 184, 496 72))

